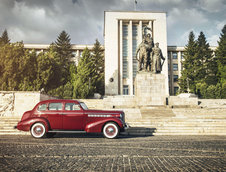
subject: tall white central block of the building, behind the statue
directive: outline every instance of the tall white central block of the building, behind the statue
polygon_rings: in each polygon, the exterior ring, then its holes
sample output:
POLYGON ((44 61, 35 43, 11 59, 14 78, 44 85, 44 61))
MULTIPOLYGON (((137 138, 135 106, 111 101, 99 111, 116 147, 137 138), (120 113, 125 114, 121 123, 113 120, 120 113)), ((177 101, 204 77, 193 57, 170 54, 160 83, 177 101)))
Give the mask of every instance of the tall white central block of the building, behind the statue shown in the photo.
MULTIPOLYGON (((144 27, 159 43, 164 57, 167 57, 166 13, 151 12, 105 12, 105 94, 134 95, 134 80, 137 73, 136 49, 142 42, 144 27)), ((168 59, 162 73, 168 92, 168 59)))

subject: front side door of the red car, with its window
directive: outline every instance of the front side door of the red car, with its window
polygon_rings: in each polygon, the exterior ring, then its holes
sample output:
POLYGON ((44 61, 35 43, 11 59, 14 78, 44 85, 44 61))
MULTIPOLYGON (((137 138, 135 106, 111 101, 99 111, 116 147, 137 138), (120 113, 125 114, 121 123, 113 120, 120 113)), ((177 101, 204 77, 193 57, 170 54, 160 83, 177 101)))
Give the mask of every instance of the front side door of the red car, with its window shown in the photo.
POLYGON ((84 130, 86 117, 81 106, 75 102, 66 102, 63 115, 64 130, 84 130))

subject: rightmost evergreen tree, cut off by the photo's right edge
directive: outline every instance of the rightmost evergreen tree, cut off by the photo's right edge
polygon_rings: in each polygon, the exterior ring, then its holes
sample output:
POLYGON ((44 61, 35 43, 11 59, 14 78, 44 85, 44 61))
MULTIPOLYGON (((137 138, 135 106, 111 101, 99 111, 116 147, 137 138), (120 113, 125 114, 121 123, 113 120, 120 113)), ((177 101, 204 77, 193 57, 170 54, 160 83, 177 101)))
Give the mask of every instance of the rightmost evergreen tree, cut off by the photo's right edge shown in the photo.
POLYGON ((216 50, 218 82, 226 85, 226 25, 222 29, 218 47, 216 50))

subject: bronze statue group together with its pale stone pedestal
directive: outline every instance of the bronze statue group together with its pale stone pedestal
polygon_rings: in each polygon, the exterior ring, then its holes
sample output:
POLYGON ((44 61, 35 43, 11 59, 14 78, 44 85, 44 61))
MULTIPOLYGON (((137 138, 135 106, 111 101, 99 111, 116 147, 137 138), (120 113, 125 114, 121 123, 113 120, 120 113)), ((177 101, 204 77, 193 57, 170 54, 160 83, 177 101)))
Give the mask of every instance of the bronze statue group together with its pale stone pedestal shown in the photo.
POLYGON ((136 102, 138 106, 166 105, 165 76, 161 74, 165 58, 159 43, 154 44, 151 35, 143 33, 143 40, 136 51, 139 62, 135 79, 136 102))

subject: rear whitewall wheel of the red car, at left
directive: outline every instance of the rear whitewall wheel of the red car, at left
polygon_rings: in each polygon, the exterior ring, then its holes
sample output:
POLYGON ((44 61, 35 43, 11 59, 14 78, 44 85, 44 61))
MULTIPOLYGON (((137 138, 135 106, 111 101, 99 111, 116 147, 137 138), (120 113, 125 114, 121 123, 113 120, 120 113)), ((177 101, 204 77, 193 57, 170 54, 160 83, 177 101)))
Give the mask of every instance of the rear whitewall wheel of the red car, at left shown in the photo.
POLYGON ((31 127, 31 135, 34 138, 42 138, 46 135, 46 127, 44 124, 38 122, 35 123, 32 127, 31 127))

